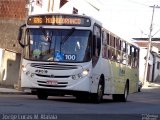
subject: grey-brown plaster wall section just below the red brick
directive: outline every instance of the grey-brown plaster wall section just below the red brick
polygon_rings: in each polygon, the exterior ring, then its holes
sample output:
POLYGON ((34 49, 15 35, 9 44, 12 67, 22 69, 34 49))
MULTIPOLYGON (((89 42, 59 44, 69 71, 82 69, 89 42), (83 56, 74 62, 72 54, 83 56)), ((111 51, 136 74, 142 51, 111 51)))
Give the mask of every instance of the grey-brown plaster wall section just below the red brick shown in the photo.
POLYGON ((21 20, 0 18, 0 48, 8 49, 17 53, 22 51, 17 36, 19 26, 23 23, 24 22, 21 20))

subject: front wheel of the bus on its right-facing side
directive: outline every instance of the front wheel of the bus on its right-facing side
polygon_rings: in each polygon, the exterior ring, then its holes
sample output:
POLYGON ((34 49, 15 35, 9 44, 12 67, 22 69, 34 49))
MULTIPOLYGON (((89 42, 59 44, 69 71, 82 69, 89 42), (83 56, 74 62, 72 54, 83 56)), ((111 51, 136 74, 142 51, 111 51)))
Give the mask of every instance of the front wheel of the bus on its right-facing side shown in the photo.
POLYGON ((91 95, 91 100, 95 103, 100 103, 103 100, 103 95, 104 95, 104 84, 102 80, 100 80, 97 93, 91 95))

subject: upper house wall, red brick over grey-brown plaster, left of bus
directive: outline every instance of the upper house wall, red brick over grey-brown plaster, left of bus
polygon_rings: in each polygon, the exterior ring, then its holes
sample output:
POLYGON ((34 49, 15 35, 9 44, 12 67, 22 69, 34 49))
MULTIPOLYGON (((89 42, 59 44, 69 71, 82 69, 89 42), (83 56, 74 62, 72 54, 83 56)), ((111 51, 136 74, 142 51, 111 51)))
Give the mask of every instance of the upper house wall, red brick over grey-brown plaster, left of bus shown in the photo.
POLYGON ((27 0, 0 0, 0 48, 21 52, 18 28, 26 18, 27 0))

